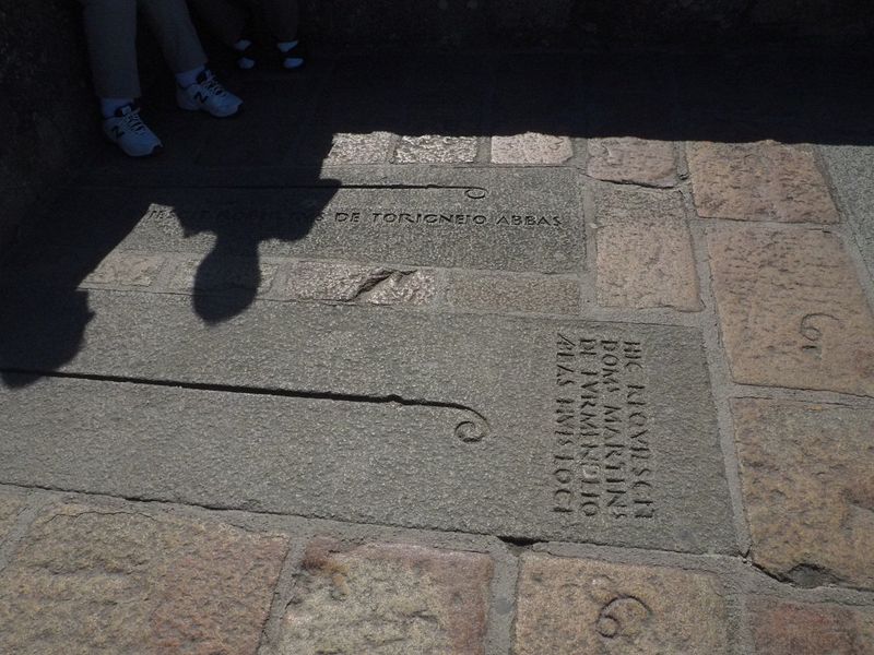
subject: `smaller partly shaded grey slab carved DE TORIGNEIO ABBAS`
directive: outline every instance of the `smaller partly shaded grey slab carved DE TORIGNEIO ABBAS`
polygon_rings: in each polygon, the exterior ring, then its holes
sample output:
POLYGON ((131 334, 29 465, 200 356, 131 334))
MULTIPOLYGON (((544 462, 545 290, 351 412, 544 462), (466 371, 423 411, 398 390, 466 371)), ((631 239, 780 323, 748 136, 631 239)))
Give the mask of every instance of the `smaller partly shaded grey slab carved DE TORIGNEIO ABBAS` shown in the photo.
POLYGON ((215 174, 204 187, 72 192, 55 213, 58 225, 68 217, 69 225, 33 248, 39 258, 70 259, 75 229, 85 241, 75 257, 85 257, 87 242, 105 242, 101 235, 118 233, 123 219, 117 245, 102 247, 541 273, 583 265, 572 170, 363 166, 317 175, 277 169, 235 182, 236 174, 215 174), (85 225, 73 219, 82 214, 85 225))

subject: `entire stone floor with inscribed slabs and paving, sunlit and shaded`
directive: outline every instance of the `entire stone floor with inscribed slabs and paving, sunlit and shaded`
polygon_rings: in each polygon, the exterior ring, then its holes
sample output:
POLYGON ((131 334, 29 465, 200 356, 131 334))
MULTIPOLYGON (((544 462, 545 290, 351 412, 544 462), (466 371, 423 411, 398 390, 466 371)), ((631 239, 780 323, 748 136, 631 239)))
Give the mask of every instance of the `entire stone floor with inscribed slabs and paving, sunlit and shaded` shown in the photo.
POLYGON ((3 263, 0 652, 874 654, 860 70, 155 90, 3 263))

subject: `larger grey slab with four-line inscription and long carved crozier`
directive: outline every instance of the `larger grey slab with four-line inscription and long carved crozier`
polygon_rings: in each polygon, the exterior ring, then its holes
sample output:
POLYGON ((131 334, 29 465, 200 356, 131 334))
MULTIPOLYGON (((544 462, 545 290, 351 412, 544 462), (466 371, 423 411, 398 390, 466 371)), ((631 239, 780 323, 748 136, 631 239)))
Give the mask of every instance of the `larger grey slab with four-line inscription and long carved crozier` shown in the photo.
POLYGON ((14 308, 29 326, 50 317, 51 330, 82 341, 63 364, 52 359, 57 334, 48 347, 7 341, 5 367, 283 395, 7 374, 0 404, 19 409, 0 414, 0 433, 22 438, 0 442, 0 481, 530 538, 735 547, 697 330, 265 301, 204 325, 188 298, 91 291, 81 333, 80 302, 47 293, 42 319, 14 308))

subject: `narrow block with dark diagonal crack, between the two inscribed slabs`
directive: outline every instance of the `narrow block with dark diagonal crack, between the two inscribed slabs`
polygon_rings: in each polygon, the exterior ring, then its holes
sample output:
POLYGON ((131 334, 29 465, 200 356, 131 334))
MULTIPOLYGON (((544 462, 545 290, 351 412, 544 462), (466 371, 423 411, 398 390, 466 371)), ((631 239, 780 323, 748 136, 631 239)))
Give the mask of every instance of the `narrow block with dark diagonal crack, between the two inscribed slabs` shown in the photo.
POLYGON ((432 270, 295 262, 275 295, 285 300, 429 305, 438 287, 432 270))

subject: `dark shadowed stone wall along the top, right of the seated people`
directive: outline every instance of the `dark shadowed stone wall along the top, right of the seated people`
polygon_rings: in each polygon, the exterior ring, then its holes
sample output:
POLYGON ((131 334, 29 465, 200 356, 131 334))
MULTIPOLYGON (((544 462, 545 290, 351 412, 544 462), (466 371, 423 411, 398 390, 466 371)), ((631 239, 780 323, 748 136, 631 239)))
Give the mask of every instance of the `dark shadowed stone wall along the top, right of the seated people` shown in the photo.
POLYGON ((306 36, 339 50, 403 46, 405 52, 428 45, 476 51, 535 46, 550 48, 676 44, 720 45, 780 36, 800 39, 874 34, 874 20, 859 0, 838 5, 827 0, 646 0, 630 7, 612 2, 554 0, 532 4, 506 0, 408 7, 380 2, 366 11, 354 2, 324 4, 304 0, 306 36), (387 20, 390 16, 390 20, 387 20))

